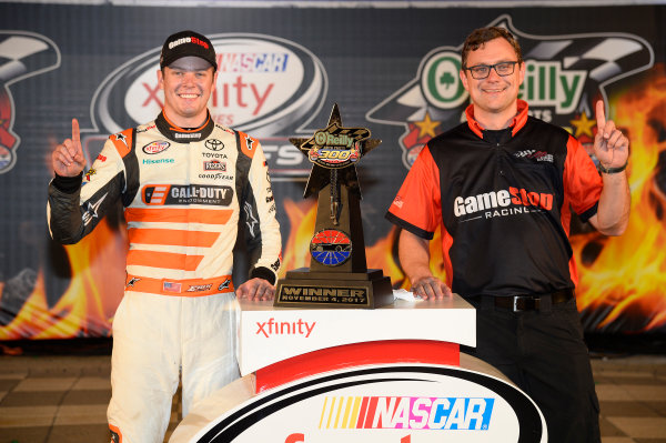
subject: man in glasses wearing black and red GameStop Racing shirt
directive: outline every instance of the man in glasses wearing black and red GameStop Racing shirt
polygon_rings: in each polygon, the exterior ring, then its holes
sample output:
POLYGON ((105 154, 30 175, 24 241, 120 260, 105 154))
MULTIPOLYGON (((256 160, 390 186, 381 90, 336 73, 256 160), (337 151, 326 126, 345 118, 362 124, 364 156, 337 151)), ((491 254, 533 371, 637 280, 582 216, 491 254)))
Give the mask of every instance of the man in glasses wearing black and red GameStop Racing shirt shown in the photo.
POLYGON ((508 31, 474 31, 462 53, 467 121, 428 141, 386 218, 415 294, 451 291, 476 308, 476 348, 544 414, 549 442, 599 442, 598 402, 576 310, 569 207, 599 232, 624 232, 628 140, 596 104, 594 152, 528 115, 525 75, 508 31), (441 226, 446 283, 430 270, 441 226))

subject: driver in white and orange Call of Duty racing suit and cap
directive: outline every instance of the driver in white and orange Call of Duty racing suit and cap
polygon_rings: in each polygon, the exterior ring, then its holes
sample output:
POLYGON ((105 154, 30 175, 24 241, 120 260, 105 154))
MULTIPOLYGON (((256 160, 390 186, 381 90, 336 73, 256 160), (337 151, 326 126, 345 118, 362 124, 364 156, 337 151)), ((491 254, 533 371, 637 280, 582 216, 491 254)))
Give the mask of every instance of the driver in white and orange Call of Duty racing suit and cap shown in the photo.
POLYGON ((51 235, 75 243, 118 203, 129 252, 124 296, 113 320, 113 442, 162 442, 182 375, 183 415, 239 376, 232 250, 239 222, 258 245, 243 298, 271 299, 281 236, 261 145, 215 124, 211 42, 169 37, 158 71, 164 108, 148 124, 109 138, 83 178, 79 125, 53 152, 51 235), (81 185, 81 182, 83 182, 81 185))

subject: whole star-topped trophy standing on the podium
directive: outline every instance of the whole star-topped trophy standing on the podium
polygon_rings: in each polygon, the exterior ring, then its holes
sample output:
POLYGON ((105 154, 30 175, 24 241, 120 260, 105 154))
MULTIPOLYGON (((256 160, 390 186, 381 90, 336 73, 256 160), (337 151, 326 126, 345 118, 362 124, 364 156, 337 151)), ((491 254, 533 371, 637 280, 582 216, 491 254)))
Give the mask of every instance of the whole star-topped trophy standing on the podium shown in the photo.
POLYGON ((310 268, 278 281, 275 306, 365 308, 393 303, 391 279, 367 269, 356 163, 382 141, 365 128, 342 125, 337 104, 329 125, 290 141, 313 163, 303 198, 317 194, 310 268))

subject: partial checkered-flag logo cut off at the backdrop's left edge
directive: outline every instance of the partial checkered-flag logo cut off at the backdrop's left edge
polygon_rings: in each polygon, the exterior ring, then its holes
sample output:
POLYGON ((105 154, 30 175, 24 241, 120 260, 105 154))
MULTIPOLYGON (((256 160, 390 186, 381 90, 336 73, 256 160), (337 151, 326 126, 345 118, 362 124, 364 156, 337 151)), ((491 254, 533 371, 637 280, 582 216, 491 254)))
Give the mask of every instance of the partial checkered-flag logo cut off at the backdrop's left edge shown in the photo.
POLYGON ((17 162, 21 139, 13 131, 14 101, 9 85, 60 66, 60 50, 50 39, 32 32, 0 31, 0 174, 17 162))

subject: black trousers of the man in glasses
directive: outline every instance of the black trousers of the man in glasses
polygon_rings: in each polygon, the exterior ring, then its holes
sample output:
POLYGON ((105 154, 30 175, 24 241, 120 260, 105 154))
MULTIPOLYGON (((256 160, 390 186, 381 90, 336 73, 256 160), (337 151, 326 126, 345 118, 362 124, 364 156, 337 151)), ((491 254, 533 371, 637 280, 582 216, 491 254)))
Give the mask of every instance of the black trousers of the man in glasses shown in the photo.
POLYGON ((599 405, 576 300, 523 312, 470 302, 477 309, 476 348, 461 351, 495 366, 534 400, 548 442, 599 443, 599 405))

